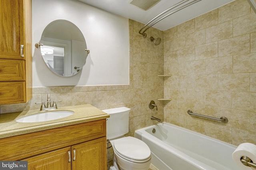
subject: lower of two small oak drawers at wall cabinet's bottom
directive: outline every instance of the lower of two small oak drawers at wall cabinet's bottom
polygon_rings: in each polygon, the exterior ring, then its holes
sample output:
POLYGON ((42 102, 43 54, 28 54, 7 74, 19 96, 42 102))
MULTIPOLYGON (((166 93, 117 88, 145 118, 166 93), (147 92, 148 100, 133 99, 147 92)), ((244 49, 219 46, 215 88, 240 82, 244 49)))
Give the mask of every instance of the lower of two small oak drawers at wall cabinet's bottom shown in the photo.
POLYGON ((0 82, 0 105, 25 101, 25 82, 0 82))

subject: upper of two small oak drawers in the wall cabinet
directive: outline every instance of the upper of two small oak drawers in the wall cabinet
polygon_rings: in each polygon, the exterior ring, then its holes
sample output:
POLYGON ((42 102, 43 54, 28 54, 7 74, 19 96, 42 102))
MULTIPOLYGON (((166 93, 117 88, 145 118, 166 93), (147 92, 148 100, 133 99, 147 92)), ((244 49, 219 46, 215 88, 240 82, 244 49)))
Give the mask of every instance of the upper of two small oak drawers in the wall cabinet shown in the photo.
POLYGON ((0 81, 24 81, 25 61, 0 59, 0 81))

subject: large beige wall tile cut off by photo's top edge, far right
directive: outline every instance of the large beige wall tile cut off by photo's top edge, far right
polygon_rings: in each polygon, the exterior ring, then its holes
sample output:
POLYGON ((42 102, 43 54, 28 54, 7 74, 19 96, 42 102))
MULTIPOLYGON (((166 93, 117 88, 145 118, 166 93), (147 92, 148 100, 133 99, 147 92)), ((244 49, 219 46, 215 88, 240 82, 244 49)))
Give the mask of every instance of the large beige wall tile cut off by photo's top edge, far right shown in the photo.
POLYGON ((218 8, 219 23, 250 14, 250 5, 246 0, 235 0, 218 8))

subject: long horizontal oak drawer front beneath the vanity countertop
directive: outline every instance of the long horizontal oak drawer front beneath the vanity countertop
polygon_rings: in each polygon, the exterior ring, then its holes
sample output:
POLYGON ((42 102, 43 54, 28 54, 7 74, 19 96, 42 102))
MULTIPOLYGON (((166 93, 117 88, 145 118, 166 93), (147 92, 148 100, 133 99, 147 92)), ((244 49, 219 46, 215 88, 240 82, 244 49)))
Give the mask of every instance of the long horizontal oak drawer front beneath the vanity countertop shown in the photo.
POLYGON ((3 138, 0 160, 21 160, 104 136, 106 119, 3 138))

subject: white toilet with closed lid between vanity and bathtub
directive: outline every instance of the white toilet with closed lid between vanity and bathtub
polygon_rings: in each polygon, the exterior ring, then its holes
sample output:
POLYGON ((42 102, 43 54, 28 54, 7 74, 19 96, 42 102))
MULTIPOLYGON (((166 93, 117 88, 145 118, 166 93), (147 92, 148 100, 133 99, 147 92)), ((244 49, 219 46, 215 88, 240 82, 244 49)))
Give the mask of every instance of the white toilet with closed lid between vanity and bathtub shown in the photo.
POLYGON ((129 131, 130 109, 118 107, 102 111, 110 115, 106 131, 114 150, 110 170, 148 170, 151 163, 148 145, 140 139, 124 136, 129 131))

